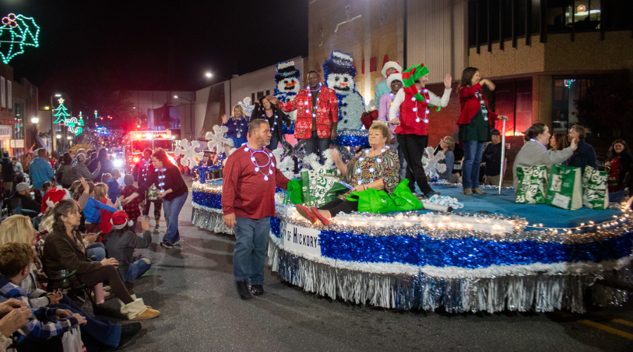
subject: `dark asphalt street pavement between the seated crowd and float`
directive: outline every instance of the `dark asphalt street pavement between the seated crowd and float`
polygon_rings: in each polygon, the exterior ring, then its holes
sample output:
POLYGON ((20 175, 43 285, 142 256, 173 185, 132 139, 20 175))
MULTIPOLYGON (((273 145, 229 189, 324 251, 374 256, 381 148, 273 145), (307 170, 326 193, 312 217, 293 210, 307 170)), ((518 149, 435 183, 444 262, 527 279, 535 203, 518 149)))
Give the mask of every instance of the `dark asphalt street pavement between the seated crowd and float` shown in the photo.
POLYGON ((585 315, 390 310, 309 294, 269 268, 264 295, 242 301, 235 238, 192 225, 191 209, 190 196, 180 246, 158 246, 162 222, 153 244, 138 251, 158 273, 137 279, 131 291, 161 314, 142 322, 125 351, 633 351, 631 303, 585 315))

